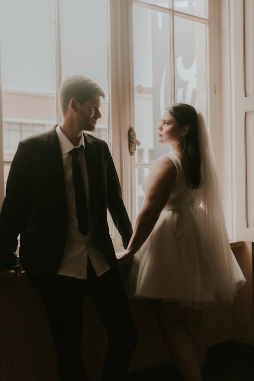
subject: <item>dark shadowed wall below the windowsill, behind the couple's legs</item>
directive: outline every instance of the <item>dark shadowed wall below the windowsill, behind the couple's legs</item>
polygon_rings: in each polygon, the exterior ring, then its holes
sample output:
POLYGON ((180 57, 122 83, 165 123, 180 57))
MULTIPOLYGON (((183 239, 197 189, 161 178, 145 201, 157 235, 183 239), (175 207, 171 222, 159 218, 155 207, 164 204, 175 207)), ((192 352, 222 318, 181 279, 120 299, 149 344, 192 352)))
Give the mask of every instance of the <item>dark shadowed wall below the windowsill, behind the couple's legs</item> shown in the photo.
MULTIPOLYGON (((254 345, 251 243, 234 248, 247 284, 234 306, 221 305, 204 311, 208 345, 234 339, 254 345)), ((121 269, 123 278, 126 269, 121 269)), ((154 308, 145 300, 132 300, 139 343, 130 371, 169 360, 155 323, 154 308)), ((84 303, 84 357, 91 381, 98 381, 106 351, 106 333, 87 297, 84 303)), ((124 329, 124 327, 123 327, 124 329)), ((1 381, 55 381, 55 354, 38 291, 28 285, 25 274, 16 289, 0 288, 0 379, 1 381)))

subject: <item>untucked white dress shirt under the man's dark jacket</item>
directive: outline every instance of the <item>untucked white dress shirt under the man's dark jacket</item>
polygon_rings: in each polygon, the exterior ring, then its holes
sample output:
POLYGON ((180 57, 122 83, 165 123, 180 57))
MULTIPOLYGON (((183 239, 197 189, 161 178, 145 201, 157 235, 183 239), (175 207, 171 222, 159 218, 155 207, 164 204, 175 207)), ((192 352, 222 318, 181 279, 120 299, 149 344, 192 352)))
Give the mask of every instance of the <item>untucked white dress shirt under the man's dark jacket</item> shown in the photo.
POLYGON ((65 173, 66 196, 68 204, 69 223, 67 231, 67 240, 65 250, 63 252, 62 261, 58 268, 57 274, 72 276, 78 279, 86 279, 87 277, 87 258, 97 274, 104 274, 109 268, 109 264, 103 254, 103 251, 96 239, 94 232, 94 216, 90 210, 89 204, 89 183, 85 164, 85 152, 79 152, 78 160, 81 165, 82 177, 86 193, 87 210, 89 215, 89 232, 84 236, 78 229, 78 219, 75 204, 75 190, 72 176, 72 156, 70 151, 73 148, 84 146, 84 136, 81 135, 79 144, 75 147, 72 142, 63 134, 60 129, 60 124, 56 127, 56 134, 59 139, 63 171, 65 173))

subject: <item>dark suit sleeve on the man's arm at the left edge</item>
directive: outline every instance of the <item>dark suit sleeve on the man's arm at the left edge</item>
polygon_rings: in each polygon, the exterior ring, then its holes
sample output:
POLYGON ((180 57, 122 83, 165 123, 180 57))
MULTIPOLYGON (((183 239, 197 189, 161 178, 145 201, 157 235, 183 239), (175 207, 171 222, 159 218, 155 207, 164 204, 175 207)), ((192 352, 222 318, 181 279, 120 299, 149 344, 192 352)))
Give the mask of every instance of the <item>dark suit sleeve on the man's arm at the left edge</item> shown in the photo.
POLYGON ((24 229, 31 192, 25 145, 20 142, 9 172, 0 213, 0 271, 18 268, 18 235, 24 229))

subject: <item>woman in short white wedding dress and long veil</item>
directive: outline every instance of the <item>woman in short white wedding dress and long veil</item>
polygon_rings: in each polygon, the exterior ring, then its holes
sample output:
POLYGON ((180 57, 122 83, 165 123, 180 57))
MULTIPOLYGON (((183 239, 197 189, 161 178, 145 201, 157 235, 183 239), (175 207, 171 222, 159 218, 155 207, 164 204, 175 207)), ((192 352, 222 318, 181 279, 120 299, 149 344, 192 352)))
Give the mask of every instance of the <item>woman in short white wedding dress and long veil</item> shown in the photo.
POLYGON ((183 379, 201 381, 202 308, 233 302, 246 280, 230 249, 204 118, 176 103, 162 117, 158 141, 172 153, 154 163, 133 236, 117 258, 132 260, 141 248, 127 288, 156 300, 164 342, 183 379))

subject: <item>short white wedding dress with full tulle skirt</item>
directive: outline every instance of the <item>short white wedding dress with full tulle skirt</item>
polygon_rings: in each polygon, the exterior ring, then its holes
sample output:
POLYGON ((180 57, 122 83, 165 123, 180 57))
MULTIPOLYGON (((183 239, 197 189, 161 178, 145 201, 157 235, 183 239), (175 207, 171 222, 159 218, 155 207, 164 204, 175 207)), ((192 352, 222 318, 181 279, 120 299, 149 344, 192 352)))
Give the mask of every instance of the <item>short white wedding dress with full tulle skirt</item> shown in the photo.
POLYGON ((168 156, 177 176, 151 234, 134 256, 127 292, 194 308, 216 300, 233 302, 236 290, 246 280, 227 233, 226 243, 215 242, 220 236, 207 231, 207 212, 200 206, 202 186, 187 188, 181 161, 174 154, 168 156))

